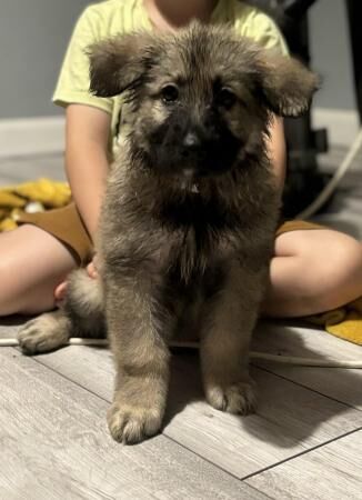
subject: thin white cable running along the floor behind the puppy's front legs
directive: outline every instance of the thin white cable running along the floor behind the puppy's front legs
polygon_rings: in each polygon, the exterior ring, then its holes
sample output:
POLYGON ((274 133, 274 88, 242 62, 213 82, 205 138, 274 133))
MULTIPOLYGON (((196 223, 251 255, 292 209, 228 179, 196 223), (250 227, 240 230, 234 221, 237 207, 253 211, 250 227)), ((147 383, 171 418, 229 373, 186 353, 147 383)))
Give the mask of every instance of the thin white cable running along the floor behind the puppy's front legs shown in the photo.
MULTIPOLYGON (((0 347, 18 347, 17 339, 0 339, 0 347)), ((107 347, 107 339, 79 339, 72 338, 68 346, 94 346, 107 347)), ((198 342, 171 342, 170 347, 198 349, 198 342)), ((267 352, 251 351, 250 358, 264 361, 276 361, 283 364, 294 364, 300 367, 320 367, 320 368, 362 368, 362 360, 328 360, 318 358, 299 358, 293 356, 269 354, 267 352)))

